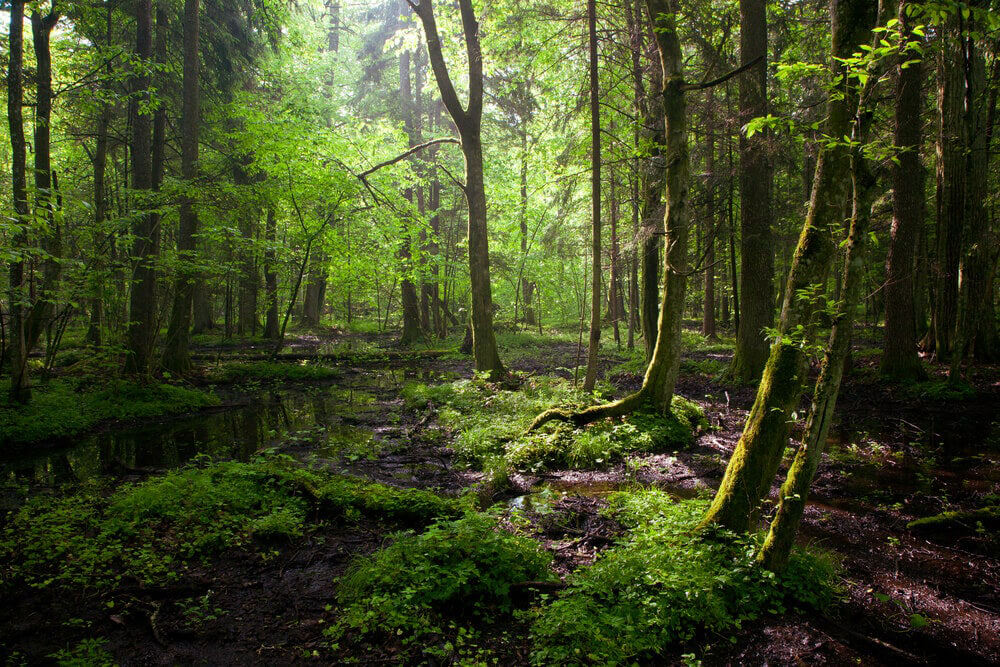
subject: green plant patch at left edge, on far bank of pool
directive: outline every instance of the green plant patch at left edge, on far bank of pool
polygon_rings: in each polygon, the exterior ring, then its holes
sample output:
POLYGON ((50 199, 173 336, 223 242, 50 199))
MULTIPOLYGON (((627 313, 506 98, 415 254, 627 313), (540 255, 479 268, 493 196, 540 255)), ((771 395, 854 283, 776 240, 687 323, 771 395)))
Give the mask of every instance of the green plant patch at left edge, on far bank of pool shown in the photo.
POLYGON ((110 419, 140 419, 217 405, 212 394, 170 384, 87 378, 52 380, 33 389, 31 402, 7 402, 0 386, 0 443, 66 438, 110 419))

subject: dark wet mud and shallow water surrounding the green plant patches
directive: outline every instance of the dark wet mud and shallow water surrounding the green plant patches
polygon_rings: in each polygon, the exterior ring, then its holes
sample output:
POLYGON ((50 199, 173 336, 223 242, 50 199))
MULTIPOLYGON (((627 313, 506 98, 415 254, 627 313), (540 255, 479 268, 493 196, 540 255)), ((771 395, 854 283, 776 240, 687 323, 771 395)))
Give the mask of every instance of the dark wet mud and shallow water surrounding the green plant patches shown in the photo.
MULTIPOLYGON (((382 343, 372 337, 300 347, 368 350, 382 343)), ((551 372, 572 367, 577 354, 575 345, 559 343, 512 365, 551 372)), ((726 355, 712 358, 725 361, 726 355)), ((603 368, 614 363, 609 358, 603 368)), ((1000 661, 1000 537, 976 525, 939 534, 906 527, 915 518, 974 509, 990 494, 1000 495, 1000 372, 986 368, 973 377, 978 393, 972 399, 935 401, 882 386, 870 379, 866 363, 856 360, 842 392, 801 534, 802 542, 838 554, 842 601, 822 615, 763 619, 735 643, 701 638, 689 648, 706 664, 1000 661)), ((466 362, 425 360, 419 369, 386 362, 343 371, 331 383, 230 387, 221 408, 105 428, 71 448, 0 462, 0 470, 4 479, 38 486, 95 475, 131 480, 201 454, 246 460, 276 448, 398 486, 455 494, 478 481, 477 473, 455 465, 449 434, 433 413, 411 412, 400 398, 403 383, 448 381, 469 372, 466 362)), ((638 382, 627 373, 610 379, 621 391, 638 382)), ((637 456, 602 471, 515 476, 516 490, 494 499, 506 504, 509 516, 531 521, 560 574, 593 562, 621 534, 600 511, 608 493, 643 485, 690 497, 718 484, 753 389, 685 375, 678 391, 699 401, 712 424, 693 447, 637 456)), ((92 635, 108 637, 134 664, 308 660, 323 648, 320 630, 330 620, 326 605, 336 578, 384 535, 379 526, 330 527, 269 561, 233 553, 179 590, 119 592, 115 609, 128 613, 85 613, 73 607, 79 601, 45 595, 12 601, 0 611, 0 627, 29 653, 75 636, 64 620, 83 618, 92 635), (223 613, 192 625, 185 610, 200 601, 223 613)), ((509 647, 507 658, 518 662, 524 650, 509 647)), ((377 659, 392 662, 392 651, 383 649, 377 659)))

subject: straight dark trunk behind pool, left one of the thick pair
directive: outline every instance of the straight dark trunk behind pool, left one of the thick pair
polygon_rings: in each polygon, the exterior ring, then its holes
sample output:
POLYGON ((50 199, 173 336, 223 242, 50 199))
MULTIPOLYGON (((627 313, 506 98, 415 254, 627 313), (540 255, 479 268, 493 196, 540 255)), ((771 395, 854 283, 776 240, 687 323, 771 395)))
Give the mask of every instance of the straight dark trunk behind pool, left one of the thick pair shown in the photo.
MULTIPOLYGON (((153 55, 152 0, 136 0, 135 56, 148 65, 153 55)), ((149 101, 150 78, 144 71, 132 77, 132 189, 138 194, 136 208, 140 211, 152 205, 149 192, 153 189, 153 156, 151 119, 143 109, 149 101), (145 192, 146 194, 143 194, 145 192)), ((141 375, 149 371, 156 322, 156 219, 151 213, 140 213, 132 223, 132 292, 129 298, 129 324, 125 372, 141 375)))

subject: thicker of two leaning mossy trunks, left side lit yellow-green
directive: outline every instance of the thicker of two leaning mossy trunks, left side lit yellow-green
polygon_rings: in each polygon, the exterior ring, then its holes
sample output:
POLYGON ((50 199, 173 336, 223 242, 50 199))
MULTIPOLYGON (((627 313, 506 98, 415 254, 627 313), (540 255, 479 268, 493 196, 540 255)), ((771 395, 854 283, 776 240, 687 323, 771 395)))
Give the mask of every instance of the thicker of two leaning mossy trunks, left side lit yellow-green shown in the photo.
MULTIPOLYGON (((874 27, 875 7, 868 0, 831 0, 833 18, 830 76, 846 87, 839 58, 867 43, 874 27)), ((827 103, 825 134, 843 137, 851 130, 853 116, 849 90, 833 95, 827 103)), ((856 103, 855 103, 856 104, 856 103)), ((843 206, 850 189, 850 155, 838 142, 823 146, 805 224, 799 236, 785 287, 778 325, 778 340, 771 346, 760 387, 725 477, 715 494, 702 526, 719 525, 736 532, 748 531, 757 520, 761 499, 771 488, 791 426, 792 410, 799 403, 808 370, 804 347, 811 342, 813 318, 823 298, 836 244, 834 231, 843 222, 843 206)), ((744 294, 744 298, 746 295, 744 294)))

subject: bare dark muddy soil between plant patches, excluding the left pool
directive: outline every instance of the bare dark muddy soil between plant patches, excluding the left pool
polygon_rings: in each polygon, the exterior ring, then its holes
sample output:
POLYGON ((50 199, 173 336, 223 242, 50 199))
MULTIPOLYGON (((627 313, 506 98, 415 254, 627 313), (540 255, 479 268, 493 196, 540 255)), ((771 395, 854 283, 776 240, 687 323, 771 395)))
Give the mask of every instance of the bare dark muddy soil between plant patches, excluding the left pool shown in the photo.
MULTIPOLYGON (((295 349, 313 351, 347 343, 387 345, 389 339, 326 335, 290 341, 295 349)), ((578 354, 575 344, 555 343, 530 356, 515 356, 511 366, 551 373, 573 367, 578 354)), ((724 354, 711 356, 725 360, 724 354)), ((602 371, 620 361, 604 359, 602 371)), ((1000 536, 975 526, 921 535, 906 524, 943 510, 975 509, 988 494, 1000 494, 1000 368, 975 371, 970 381, 977 393, 972 398, 932 400, 882 385, 873 363, 854 360, 801 531, 803 543, 839 556, 841 601, 822 614, 762 619, 734 638, 702 638, 697 646, 668 655, 668 662, 679 662, 688 651, 705 664, 998 662, 1000 536)), ((397 362, 357 364, 345 368, 347 379, 338 381, 363 379, 376 368, 404 367, 397 362)), ((421 361, 420 368, 435 373, 430 381, 471 371, 467 361, 443 359, 421 361)), ((640 381, 629 373, 609 379, 621 392, 640 381)), ((365 390, 374 396, 370 406, 331 419, 370 430, 379 453, 321 460, 383 483, 447 494, 478 482, 478 473, 455 465, 447 434, 437 428, 433 414, 405 408, 398 384, 376 383, 365 390)), ((634 457, 601 471, 517 476, 516 490, 495 499, 517 507, 518 515, 530 520, 521 528, 553 553, 560 576, 592 563, 621 535, 621 526, 601 512, 610 491, 638 483, 691 496, 710 493, 718 484, 755 388, 684 375, 678 392, 700 402, 712 425, 692 447, 634 457)), ((310 454, 307 441, 282 448, 310 454)), ((130 478, 135 476, 133 471, 130 478)), ((405 526, 324 525, 294 544, 268 545, 258 552, 233 550, 172 588, 126 583, 107 594, 21 591, 0 605, 0 657, 15 664, 21 659, 43 662, 44 656, 81 638, 104 637, 122 664, 293 664, 317 658, 324 663, 399 663, 396 638, 365 646, 348 641, 331 652, 322 633, 333 620, 328 605, 337 578, 352 558, 376 550, 399 528, 405 526), (205 610, 191 611, 206 595, 205 610)), ((530 600, 527 594, 525 604, 530 600)), ((501 664, 526 661, 526 640, 509 639, 524 637, 525 628, 482 630, 501 664), (501 636, 507 638, 503 644, 501 636)))

